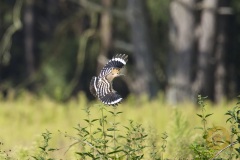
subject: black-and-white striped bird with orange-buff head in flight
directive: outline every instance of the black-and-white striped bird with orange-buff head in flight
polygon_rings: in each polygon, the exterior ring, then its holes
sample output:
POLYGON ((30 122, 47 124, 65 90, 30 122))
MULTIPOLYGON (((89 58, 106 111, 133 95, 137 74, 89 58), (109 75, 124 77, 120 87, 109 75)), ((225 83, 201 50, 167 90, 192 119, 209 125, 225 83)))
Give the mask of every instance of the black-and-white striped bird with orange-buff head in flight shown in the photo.
POLYGON ((120 70, 126 65, 128 55, 117 54, 100 71, 98 77, 92 77, 90 92, 106 105, 118 105, 122 97, 113 89, 112 83, 115 77, 122 76, 120 70))

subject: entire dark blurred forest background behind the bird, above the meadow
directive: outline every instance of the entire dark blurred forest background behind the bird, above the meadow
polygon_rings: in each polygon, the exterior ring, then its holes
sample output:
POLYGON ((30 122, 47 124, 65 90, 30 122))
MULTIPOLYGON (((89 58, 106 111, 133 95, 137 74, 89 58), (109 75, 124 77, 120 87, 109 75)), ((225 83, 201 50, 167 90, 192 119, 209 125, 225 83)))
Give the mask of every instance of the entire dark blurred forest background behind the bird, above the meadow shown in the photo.
POLYGON ((129 55, 121 94, 220 102, 240 90, 238 0, 4 0, 0 91, 57 100, 83 91, 114 54, 129 55))

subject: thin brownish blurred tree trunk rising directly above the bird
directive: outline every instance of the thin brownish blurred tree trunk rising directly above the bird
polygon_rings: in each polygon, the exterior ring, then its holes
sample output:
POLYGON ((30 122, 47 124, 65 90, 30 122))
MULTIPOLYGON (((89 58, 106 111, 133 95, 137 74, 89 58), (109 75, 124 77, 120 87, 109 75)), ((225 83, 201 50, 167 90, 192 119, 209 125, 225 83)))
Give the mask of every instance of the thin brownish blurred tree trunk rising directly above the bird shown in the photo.
POLYGON ((112 16, 110 9, 112 6, 112 0, 102 0, 102 5, 104 10, 101 13, 101 26, 100 26, 100 40, 101 40, 101 49, 99 53, 99 64, 98 64, 98 73, 105 65, 107 54, 112 45, 112 16))

